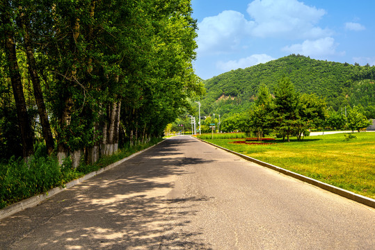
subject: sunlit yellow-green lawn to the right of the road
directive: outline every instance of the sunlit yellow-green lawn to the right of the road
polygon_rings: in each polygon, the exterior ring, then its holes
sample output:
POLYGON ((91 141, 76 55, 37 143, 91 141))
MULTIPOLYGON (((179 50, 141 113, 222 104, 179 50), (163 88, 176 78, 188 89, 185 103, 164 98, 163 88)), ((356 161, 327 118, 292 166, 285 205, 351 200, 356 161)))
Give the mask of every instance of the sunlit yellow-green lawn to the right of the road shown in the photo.
POLYGON ((289 171, 375 199, 375 133, 318 135, 302 141, 245 142, 245 136, 216 134, 198 138, 289 171), (225 138, 225 139, 221 139, 225 138))

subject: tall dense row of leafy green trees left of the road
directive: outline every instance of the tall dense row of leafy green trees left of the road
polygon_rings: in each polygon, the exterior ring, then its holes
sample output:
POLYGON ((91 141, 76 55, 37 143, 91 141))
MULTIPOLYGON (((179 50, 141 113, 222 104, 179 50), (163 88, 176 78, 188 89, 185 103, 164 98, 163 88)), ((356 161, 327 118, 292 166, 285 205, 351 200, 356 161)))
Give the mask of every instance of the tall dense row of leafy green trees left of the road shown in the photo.
POLYGON ((160 136, 204 92, 190 0, 0 3, 0 158, 93 163, 160 136))

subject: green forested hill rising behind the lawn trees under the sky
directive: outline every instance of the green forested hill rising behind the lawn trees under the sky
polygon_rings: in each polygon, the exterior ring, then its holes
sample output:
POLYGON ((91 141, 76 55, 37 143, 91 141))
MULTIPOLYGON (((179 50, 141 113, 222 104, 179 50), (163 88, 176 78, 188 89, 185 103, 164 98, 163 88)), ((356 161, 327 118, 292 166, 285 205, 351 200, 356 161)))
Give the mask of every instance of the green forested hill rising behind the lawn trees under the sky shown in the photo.
POLYGON ((335 110, 358 104, 375 109, 374 66, 327 62, 293 54, 204 81, 207 95, 201 101, 202 110, 206 115, 246 110, 260 83, 265 83, 272 93, 283 75, 290 78, 297 92, 315 93, 335 110))

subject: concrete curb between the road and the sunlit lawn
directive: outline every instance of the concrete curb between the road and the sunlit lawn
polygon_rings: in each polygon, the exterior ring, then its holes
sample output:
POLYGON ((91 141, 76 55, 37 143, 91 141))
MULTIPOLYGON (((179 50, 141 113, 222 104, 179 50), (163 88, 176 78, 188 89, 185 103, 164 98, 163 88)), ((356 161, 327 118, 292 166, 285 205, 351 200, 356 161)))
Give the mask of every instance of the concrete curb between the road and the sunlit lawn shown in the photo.
POLYGON ((201 140, 199 138, 197 138, 197 139, 200 140, 201 142, 205 142, 207 144, 211 144, 214 147, 217 147, 219 149, 223 149, 225 151, 233 153, 233 154, 235 154, 235 155, 237 155, 237 156, 239 156, 241 158, 244 158, 245 160, 249 160, 249 161, 251 161, 253 163, 257 163, 258 165, 261 165, 263 167, 268 167, 270 169, 273 169, 273 170, 275 170, 277 172, 280 172, 282 174, 285 174, 287 176, 291 176, 291 177, 296 178, 296 179, 298 179, 300 181, 304 181, 305 183, 310 183, 311 185, 317 186, 317 187, 322 188, 324 190, 327 190, 329 192, 333 192, 334 194, 338 194, 338 195, 340 195, 342 197, 345 197, 347 199, 351 199, 352 201, 357 201, 358 203, 362 203, 362 204, 364 204, 366 206, 375 208, 375 199, 371 199, 369 197, 364 197, 364 196, 362 196, 360 194, 355 194, 353 192, 350 192, 348 190, 344 190, 342 188, 337 188, 337 187, 335 187, 333 185, 329 185, 327 183, 323 183, 321 181, 317 181, 317 180, 315 180, 313 178, 310 178, 310 177, 307 177, 307 176, 303 176, 301 174, 294 173, 294 172, 289 171, 287 169, 283 169, 281 167, 277 167, 277 166, 271 165, 269 163, 264 163, 261 160, 257 160, 255 158, 251 158, 250 156, 245 156, 242 153, 237 153, 237 152, 232 151, 230 149, 225 149, 225 148, 220 147, 220 146, 218 146, 216 144, 213 144, 211 142, 206 142, 206 141, 201 140))

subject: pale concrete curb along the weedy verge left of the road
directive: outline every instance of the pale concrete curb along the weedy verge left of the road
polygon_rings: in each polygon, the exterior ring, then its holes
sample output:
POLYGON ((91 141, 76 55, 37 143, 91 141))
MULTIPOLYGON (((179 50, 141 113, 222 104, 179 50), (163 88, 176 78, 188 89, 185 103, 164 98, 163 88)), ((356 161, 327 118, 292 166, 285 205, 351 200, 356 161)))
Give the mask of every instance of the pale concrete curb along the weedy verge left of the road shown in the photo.
MULTIPOLYGON (((162 140, 161 142, 163 142, 162 140)), ((157 144, 160 144, 161 142, 158 142, 157 144)), ((147 149, 143 149, 141 151, 138 151, 136 153, 133 153, 131 156, 128 156, 126 158, 123 158, 122 160, 118 160, 115 163, 112 163, 111 165, 108 165, 106 167, 102 167, 101 169, 98 169, 97 171, 91 172, 86 174, 85 176, 82 176, 81 178, 77 178, 73 181, 70 181, 68 183, 65 183, 65 187, 56 187, 52 188, 51 190, 48 190, 45 194, 38 194, 34 197, 30 197, 28 199, 24 199, 22 201, 19 201, 17 203, 14 203, 10 206, 7 206, 6 208, 0 209, 0 220, 4 219, 6 217, 9 217, 11 215, 14 215, 15 213, 18 213, 22 210, 25 210, 26 208, 32 208, 34 206, 38 206, 38 204, 42 201, 45 201, 45 199, 49 199, 50 197, 54 196, 55 194, 58 194, 59 192, 63 192, 67 188, 72 188, 74 185, 77 185, 83 181, 86 181, 88 178, 91 178, 97 174, 101 174, 102 172, 105 172, 106 170, 109 170, 113 167, 116 167, 120 165, 121 163, 124 163, 125 161, 133 158, 134 156, 138 156, 138 154, 143 153, 144 151, 147 151, 148 149, 152 149, 157 144, 152 145, 151 147, 148 147, 147 149)))

